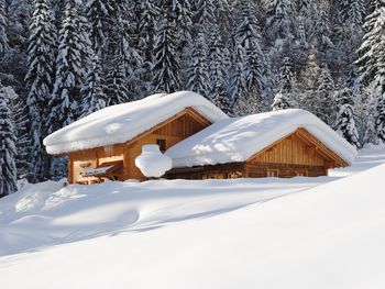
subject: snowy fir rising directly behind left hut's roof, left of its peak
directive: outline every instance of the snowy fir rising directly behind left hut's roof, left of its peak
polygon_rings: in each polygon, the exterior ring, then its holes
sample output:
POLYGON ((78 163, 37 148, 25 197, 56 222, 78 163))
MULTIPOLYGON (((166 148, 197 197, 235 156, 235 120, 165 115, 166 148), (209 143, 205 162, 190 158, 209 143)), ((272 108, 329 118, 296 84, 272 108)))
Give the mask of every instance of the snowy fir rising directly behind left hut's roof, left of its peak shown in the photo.
POLYGON ((177 53, 176 24, 170 11, 164 11, 156 32, 154 48, 154 81, 156 92, 174 92, 180 87, 179 69, 180 60, 177 53))

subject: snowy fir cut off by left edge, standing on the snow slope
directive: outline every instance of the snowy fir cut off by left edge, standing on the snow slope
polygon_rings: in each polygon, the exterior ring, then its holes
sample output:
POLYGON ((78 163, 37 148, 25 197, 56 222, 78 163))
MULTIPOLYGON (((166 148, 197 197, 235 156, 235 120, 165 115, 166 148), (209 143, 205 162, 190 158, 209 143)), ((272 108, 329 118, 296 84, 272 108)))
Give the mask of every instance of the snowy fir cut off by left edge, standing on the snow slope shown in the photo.
POLYGON ((11 110, 0 85, 0 198, 16 190, 15 127, 11 110))

